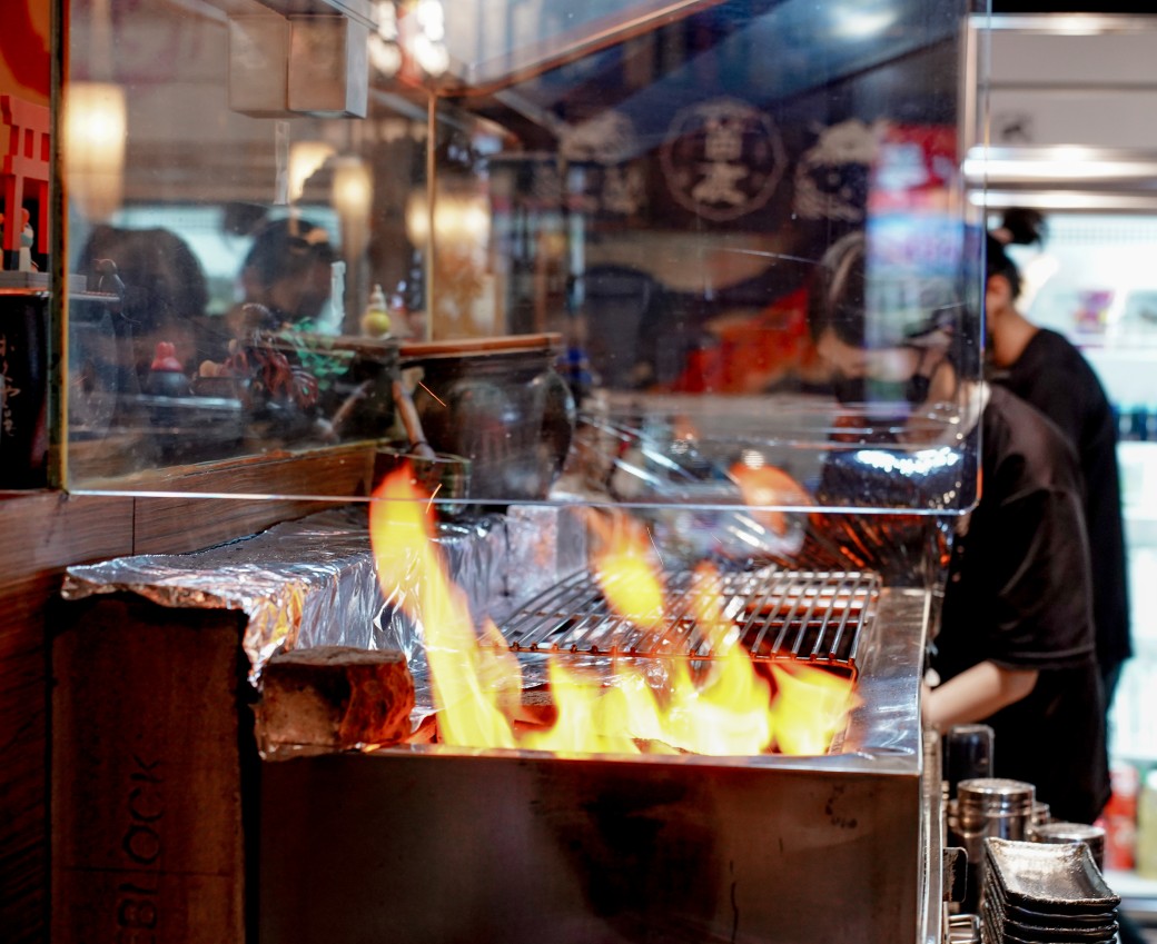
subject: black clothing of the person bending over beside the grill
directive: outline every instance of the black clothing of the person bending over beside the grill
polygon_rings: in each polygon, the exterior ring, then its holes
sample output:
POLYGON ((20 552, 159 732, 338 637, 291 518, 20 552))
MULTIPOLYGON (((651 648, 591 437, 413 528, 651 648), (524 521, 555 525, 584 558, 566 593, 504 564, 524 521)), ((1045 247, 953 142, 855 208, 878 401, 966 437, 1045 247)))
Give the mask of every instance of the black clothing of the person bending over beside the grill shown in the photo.
POLYGON ((1092 823, 1108 798, 1078 470, 1056 428, 992 388, 981 494, 952 550, 931 665, 1036 669, 1033 691, 986 720, 994 773, 1033 783, 1054 818, 1092 823))

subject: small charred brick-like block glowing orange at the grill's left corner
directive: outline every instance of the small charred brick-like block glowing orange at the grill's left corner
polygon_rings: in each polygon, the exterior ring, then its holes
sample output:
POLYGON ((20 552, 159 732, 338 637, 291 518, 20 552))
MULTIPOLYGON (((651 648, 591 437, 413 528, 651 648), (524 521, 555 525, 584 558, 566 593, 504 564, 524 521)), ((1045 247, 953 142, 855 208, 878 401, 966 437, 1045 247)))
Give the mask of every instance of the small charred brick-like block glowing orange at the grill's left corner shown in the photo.
POLYGON ((410 735, 414 679, 397 651, 322 646, 270 659, 255 707, 266 757, 297 747, 342 751, 410 735))

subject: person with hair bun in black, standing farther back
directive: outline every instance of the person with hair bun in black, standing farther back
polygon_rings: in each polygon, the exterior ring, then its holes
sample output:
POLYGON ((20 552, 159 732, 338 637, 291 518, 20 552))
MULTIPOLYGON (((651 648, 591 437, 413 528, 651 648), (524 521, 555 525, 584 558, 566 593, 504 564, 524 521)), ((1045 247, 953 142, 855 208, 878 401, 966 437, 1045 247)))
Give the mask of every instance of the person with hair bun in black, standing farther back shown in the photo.
MULTIPOLYGON (((1039 216, 1016 214, 1011 222, 1018 224, 1010 223, 997 233, 1016 242, 1039 241, 1039 216)), ((1032 324, 1017 309, 1020 273, 1000 238, 988 239, 987 275, 992 379, 1056 423, 1081 460, 1097 661, 1107 708, 1121 668, 1133 655, 1117 420, 1100 381, 1081 352, 1063 335, 1032 324)))

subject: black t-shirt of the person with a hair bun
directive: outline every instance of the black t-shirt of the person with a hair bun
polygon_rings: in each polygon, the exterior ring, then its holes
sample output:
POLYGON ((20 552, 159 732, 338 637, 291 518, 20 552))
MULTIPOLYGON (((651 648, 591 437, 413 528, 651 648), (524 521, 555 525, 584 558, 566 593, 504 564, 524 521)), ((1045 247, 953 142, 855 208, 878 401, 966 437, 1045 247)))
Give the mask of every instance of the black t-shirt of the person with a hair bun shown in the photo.
POLYGON ((1055 331, 1038 331, 1007 373, 994 377, 1056 423, 1077 450, 1092 561, 1097 659, 1113 669, 1133 655, 1121 523, 1117 421, 1089 362, 1055 331))

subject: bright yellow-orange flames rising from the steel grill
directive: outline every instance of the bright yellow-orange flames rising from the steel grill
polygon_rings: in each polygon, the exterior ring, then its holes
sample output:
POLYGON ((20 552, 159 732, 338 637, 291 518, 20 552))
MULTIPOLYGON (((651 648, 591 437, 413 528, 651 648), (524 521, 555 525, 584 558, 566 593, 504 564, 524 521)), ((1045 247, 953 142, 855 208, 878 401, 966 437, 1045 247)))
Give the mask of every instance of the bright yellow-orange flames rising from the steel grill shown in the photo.
MULTIPOLYGON (((824 753, 850 707, 850 681, 821 670, 772 668, 778 694, 739 643, 724 615, 715 571, 701 566, 690 599, 708 652, 668 659, 661 687, 632 662, 616 666, 614 684, 552 659, 554 723, 517 730, 522 677, 516 657, 488 625, 480 644, 465 595, 448 576, 434 540, 426 495, 401 467, 370 503, 370 540, 378 580, 425 633, 439 732, 443 743, 470 747, 529 747, 572 753, 693 752, 824 753), (797 730, 803 725, 804 730, 797 730)), ((659 630, 664 619, 661 571, 648 555, 647 532, 625 517, 594 519, 600 550, 591 567, 607 603, 625 619, 659 630)), ((669 650, 670 651, 670 650, 669 650)))

